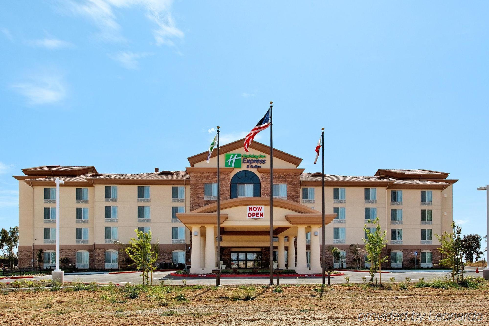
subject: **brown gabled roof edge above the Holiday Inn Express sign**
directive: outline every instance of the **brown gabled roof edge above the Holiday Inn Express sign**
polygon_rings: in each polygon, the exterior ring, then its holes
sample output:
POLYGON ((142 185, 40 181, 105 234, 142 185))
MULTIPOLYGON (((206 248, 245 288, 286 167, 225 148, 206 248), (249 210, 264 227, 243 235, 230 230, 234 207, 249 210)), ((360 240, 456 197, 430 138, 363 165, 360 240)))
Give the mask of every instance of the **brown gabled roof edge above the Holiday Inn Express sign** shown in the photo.
MULTIPOLYGON (((244 146, 244 138, 220 146, 220 151, 222 154, 224 154, 233 151, 235 149, 241 148, 243 146, 244 146)), ((253 140, 249 145, 249 148, 256 149, 257 151, 270 155, 270 146, 262 144, 261 142, 253 140)), ((190 163, 190 166, 194 166, 195 163, 199 163, 204 160, 207 160, 207 155, 209 155, 209 152, 202 152, 200 154, 191 156, 188 158, 188 162, 190 163)), ((217 156, 217 150, 214 150, 211 154, 211 158, 216 156, 217 156)), ((276 157, 285 162, 292 163, 296 167, 299 166, 299 164, 302 162, 301 158, 290 155, 289 153, 286 152, 282 152, 281 150, 278 150, 276 148, 273 148, 273 157, 276 157)))

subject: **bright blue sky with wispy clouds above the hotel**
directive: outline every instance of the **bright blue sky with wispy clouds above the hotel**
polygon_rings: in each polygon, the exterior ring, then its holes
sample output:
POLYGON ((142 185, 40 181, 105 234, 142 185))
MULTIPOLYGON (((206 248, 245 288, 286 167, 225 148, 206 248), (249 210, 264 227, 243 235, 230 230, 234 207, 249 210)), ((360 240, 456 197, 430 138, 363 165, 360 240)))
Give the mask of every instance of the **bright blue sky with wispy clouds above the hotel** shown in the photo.
POLYGON ((181 170, 271 100, 274 147, 306 171, 325 127, 326 173, 449 172, 455 220, 484 235, 489 4, 304 2, 2 1, 0 227, 21 168, 181 170))

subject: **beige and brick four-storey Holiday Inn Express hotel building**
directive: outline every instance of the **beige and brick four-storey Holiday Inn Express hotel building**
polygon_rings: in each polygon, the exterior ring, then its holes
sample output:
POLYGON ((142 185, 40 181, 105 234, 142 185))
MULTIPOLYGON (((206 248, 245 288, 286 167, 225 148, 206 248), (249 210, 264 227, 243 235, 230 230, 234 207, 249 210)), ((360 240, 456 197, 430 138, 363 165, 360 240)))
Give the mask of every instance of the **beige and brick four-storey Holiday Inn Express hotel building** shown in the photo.
MULTIPOLYGON (((269 196, 274 196, 274 265, 321 272, 321 173, 305 173, 302 159, 243 141, 221 146, 221 267, 269 267, 269 196)), ((99 173, 94 166, 22 169, 19 181, 19 266, 54 266, 56 201, 60 201, 60 257, 78 268, 119 269, 135 229, 151 230, 157 263, 210 273, 217 258, 217 151, 188 158, 185 171, 99 173), (56 198, 55 178, 62 179, 56 198), (43 250, 41 261, 38 252, 43 250)), ((355 265, 351 245, 364 245, 364 226, 379 218, 387 232, 383 269, 437 267, 435 234, 450 232, 448 173, 379 169, 372 176, 325 176, 326 267, 355 265), (333 259, 331 248, 340 249, 333 259)), ((362 267, 368 267, 361 256, 362 267)))

